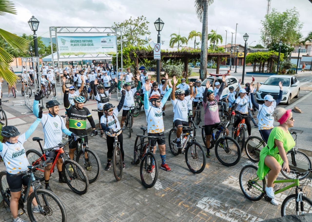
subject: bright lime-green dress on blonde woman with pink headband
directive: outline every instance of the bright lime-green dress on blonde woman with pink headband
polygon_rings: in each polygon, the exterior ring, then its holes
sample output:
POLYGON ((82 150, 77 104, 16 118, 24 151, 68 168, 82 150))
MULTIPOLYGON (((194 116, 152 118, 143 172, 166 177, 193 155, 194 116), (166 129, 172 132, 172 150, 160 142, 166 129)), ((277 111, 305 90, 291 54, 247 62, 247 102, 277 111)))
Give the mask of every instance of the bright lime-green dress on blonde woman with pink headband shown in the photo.
POLYGON ((269 139, 268 139, 268 144, 260 151, 260 160, 258 163, 258 170, 257 170, 257 175, 259 176, 259 179, 262 180, 264 176, 269 172, 270 168, 264 164, 264 158, 266 155, 271 155, 273 156, 277 162, 282 165, 283 160, 278 154, 278 147, 274 147, 274 140, 277 139, 281 142, 283 142, 283 146, 285 149, 285 152, 289 151, 291 148, 295 146, 295 141, 292 138, 290 132, 285 132, 280 127, 274 127, 270 133, 269 139), (271 147, 271 148, 269 148, 271 147))

